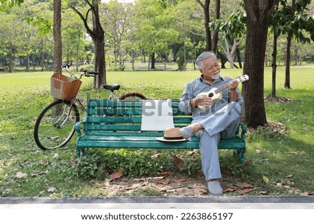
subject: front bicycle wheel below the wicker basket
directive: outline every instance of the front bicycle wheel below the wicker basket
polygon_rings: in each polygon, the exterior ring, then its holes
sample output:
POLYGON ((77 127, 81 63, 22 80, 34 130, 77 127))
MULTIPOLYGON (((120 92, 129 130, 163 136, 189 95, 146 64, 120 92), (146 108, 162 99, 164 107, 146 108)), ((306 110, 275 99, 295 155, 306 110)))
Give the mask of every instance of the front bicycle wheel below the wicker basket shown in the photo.
POLYGON ((80 113, 71 101, 54 101, 38 116, 33 137, 40 149, 63 147, 75 132, 80 113))

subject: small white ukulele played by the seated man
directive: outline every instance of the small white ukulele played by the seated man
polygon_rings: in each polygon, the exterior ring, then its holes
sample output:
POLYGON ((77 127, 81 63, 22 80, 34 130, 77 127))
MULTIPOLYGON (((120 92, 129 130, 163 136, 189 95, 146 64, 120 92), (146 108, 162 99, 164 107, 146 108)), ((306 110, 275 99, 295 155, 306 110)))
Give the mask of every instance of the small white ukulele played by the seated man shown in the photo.
MULTIPOLYGON (((238 83, 248 81, 248 75, 244 74, 244 76, 239 76, 237 79, 234 79, 234 80, 238 81, 238 83)), ((207 95, 208 97, 211 97, 210 106, 198 106, 198 108, 200 108, 200 110, 203 110, 203 111, 211 108, 213 104, 215 104, 216 102, 220 101, 223 98, 222 92, 228 87, 229 87, 229 84, 227 83, 226 85, 223 85, 223 87, 221 88, 211 88, 209 92, 202 92, 200 94, 197 94, 197 96, 207 95)))

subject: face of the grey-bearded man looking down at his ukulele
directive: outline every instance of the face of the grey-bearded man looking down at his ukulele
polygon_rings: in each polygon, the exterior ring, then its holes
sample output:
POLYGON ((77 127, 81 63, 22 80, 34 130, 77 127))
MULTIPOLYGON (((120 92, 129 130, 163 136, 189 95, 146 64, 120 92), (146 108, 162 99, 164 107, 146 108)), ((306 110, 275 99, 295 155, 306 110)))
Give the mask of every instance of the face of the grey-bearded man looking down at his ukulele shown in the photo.
POLYGON ((204 67, 203 69, 200 69, 200 72, 203 74, 205 80, 212 82, 215 79, 218 79, 220 74, 220 67, 214 56, 203 60, 203 65, 204 67))

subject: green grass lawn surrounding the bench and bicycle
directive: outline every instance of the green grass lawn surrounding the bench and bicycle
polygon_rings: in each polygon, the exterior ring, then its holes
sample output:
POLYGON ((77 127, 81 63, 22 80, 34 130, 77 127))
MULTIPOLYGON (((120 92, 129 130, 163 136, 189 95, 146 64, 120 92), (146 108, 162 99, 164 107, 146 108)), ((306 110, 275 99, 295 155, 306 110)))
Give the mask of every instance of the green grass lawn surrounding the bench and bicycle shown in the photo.
MULTIPOLYGON (((284 67, 278 67, 277 96, 289 97, 292 101, 266 101, 265 108, 268 122, 280 122, 284 128, 278 133, 259 128, 248 135, 245 165, 239 165, 230 151, 220 151, 223 168, 250 182, 258 190, 269 191, 269 195, 313 193, 313 68, 313 65, 291 67, 292 89, 287 90, 282 88, 284 67), (269 179, 269 183, 263 181, 263 176, 269 179), (294 185, 290 188, 276 186, 276 183, 288 185, 292 181, 294 185)), ((223 69, 222 74, 235 77, 242 71, 223 69)), ((99 163, 105 159, 110 162, 110 172, 128 166, 133 169, 133 172, 128 172, 132 176, 154 175, 160 170, 172 168, 174 151, 165 151, 161 154, 163 163, 154 163, 149 160, 151 151, 130 155, 127 150, 106 152, 96 149, 89 151, 83 165, 73 167, 76 156, 74 139, 66 147, 54 151, 38 149, 33 141, 33 126, 40 110, 52 101, 50 76, 51 72, 0 74, 0 197, 107 195, 97 186, 104 177, 99 172, 99 163), (26 173, 27 177, 19 179, 17 172, 26 173), (48 192, 47 187, 57 188, 57 191, 48 192)), ((151 99, 178 99, 184 85, 198 76, 199 73, 193 70, 107 72, 107 83, 121 84, 120 94, 136 91, 151 99)), ((107 98, 108 92, 91 90, 91 81, 83 79, 82 94, 90 94, 91 98, 107 98)), ((266 67, 265 96, 270 92, 271 68, 266 67)), ((186 162, 188 158, 184 152, 178 156, 185 158, 183 170, 186 173, 193 174, 200 167, 199 157, 186 162)), ((109 170, 109 167, 103 168, 109 170)))

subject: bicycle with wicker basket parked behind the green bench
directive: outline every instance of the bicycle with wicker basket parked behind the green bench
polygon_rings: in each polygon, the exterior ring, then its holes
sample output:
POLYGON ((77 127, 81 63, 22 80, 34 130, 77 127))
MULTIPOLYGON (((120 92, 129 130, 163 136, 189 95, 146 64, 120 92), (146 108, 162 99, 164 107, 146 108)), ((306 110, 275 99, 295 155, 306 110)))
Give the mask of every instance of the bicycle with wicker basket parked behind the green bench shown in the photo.
MULTIPOLYGON (((82 84, 82 76, 93 76, 99 72, 89 72, 83 69, 82 73, 70 72, 70 65, 62 65, 63 69, 70 74, 70 77, 55 73, 51 77, 51 94, 56 101, 53 101, 43 109, 36 119, 33 137, 40 149, 56 149, 65 146, 75 133, 75 124, 80 121, 79 108, 86 111, 86 101, 78 92, 82 84)), ((119 90, 120 85, 103 85, 103 88, 110 90, 109 99, 115 100, 142 100, 147 99, 143 94, 129 92, 118 97, 114 94, 119 90)))

